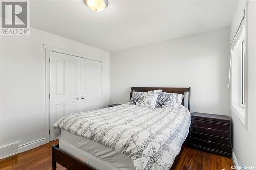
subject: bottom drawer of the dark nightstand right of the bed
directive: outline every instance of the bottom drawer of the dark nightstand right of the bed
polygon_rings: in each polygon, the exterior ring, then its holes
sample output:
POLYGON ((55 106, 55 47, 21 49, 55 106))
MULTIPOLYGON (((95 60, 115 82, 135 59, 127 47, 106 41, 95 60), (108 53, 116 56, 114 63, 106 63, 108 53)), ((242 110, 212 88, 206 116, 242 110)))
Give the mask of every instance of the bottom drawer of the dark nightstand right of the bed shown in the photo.
POLYGON ((229 145, 208 142, 206 140, 201 140, 201 139, 196 139, 196 138, 192 138, 191 144, 192 145, 195 144, 195 145, 198 145, 198 146, 204 147, 204 148, 218 150, 218 151, 221 151, 221 152, 230 153, 230 146, 229 145))

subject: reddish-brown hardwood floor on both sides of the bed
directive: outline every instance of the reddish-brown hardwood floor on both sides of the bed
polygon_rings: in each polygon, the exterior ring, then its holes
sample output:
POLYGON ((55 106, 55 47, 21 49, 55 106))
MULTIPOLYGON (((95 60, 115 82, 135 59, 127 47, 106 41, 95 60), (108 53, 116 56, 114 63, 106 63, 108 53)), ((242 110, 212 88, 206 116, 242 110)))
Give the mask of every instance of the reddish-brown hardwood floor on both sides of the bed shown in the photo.
MULTIPOLYGON (((51 169, 51 145, 57 143, 58 141, 55 140, 15 156, 1 159, 0 169, 51 169)), ((175 170, 226 170, 231 166, 234 166, 231 158, 185 147, 175 170)), ((57 164, 57 170, 63 169, 65 168, 57 164)))

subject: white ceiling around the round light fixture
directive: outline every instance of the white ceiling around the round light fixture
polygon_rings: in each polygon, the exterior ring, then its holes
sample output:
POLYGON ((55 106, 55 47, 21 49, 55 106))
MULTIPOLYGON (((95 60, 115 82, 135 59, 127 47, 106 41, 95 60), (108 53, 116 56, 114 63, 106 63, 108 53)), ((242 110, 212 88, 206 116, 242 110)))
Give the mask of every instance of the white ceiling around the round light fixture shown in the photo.
POLYGON ((83 0, 30 1, 31 26, 106 51, 231 25, 237 1, 109 0, 102 12, 83 0))

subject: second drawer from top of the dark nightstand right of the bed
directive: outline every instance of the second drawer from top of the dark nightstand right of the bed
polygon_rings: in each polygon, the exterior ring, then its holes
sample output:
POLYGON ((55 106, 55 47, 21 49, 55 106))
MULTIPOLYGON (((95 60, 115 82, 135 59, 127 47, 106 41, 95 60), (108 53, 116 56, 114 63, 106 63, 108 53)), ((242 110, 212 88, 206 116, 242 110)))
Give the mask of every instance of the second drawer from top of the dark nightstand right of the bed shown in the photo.
POLYGON ((198 133, 203 133, 203 134, 208 134, 208 135, 230 138, 230 132, 228 132, 228 131, 221 131, 221 130, 215 130, 215 129, 208 130, 207 128, 202 128, 202 127, 197 127, 197 126, 192 126, 192 132, 198 132, 198 133))

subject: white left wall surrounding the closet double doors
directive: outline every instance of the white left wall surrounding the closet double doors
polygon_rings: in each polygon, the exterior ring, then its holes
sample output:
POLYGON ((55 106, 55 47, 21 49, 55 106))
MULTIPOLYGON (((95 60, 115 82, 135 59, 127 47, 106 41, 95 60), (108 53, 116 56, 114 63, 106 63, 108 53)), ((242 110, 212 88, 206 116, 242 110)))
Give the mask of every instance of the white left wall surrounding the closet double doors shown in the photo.
MULTIPOLYGON (((0 147, 20 141, 21 145, 46 138, 45 56, 47 44, 102 60, 103 106, 109 104, 109 52, 30 29, 29 36, 1 36, 1 122, 0 147)), ((21 151, 46 142, 42 140, 21 151)))

